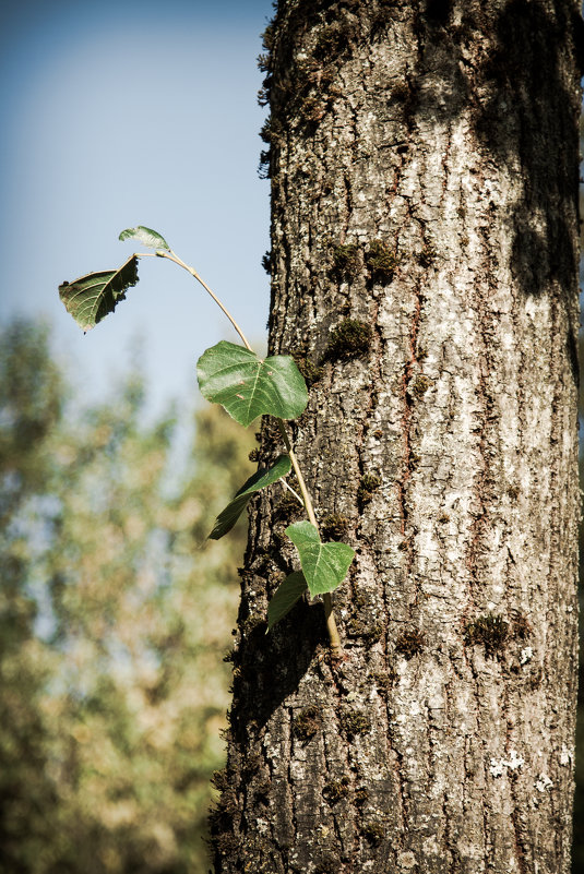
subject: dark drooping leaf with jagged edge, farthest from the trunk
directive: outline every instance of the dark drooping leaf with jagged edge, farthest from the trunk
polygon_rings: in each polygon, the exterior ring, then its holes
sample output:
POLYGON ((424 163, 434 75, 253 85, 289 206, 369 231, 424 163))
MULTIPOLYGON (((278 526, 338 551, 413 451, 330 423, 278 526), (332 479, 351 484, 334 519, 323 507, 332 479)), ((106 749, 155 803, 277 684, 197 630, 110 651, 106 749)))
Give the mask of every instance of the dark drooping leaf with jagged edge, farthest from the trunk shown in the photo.
POLYGON ((80 276, 73 283, 59 286, 59 297, 65 309, 86 333, 114 312, 126 291, 138 283, 138 258, 132 255, 117 271, 100 271, 80 276))

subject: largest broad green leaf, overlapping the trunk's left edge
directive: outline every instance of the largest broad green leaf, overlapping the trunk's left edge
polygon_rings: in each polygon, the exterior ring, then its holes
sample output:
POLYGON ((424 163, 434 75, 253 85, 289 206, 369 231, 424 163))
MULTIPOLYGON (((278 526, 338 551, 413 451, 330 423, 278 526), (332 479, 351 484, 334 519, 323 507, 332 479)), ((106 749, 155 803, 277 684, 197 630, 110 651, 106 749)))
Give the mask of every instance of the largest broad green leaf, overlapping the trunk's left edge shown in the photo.
POLYGON ((308 404, 305 380, 287 355, 263 360, 243 346, 221 340, 203 352, 196 376, 203 396, 224 406, 246 428, 264 412, 296 419, 308 404))

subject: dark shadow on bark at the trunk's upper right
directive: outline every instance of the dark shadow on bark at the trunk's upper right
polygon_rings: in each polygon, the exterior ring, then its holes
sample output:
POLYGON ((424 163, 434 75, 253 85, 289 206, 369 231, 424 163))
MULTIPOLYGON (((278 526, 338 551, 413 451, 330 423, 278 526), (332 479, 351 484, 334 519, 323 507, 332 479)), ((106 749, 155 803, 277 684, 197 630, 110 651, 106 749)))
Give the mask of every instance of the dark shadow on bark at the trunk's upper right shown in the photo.
POLYGON ((462 24, 453 27, 453 5, 427 2, 421 76, 412 83, 418 92, 415 115, 448 122, 473 106, 479 144, 498 165, 508 166, 515 181, 516 176, 522 180, 522 196, 509 216, 517 286, 525 295, 538 295, 558 283, 571 292, 580 256, 571 226, 577 196, 577 96, 567 89, 560 68, 571 34, 582 53, 582 20, 567 4, 555 4, 551 14, 541 0, 510 0, 494 21, 468 7, 462 24), (465 46, 477 33, 488 34, 490 49, 473 68, 465 46), (437 74, 440 70, 444 74, 437 74), (434 77, 429 91, 424 89, 427 75, 434 77), (541 148, 543 140, 557 144, 556 154, 541 148), (567 141, 573 141, 568 152, 567 141), (553 160, 563 166, 550 172, 553 160))

